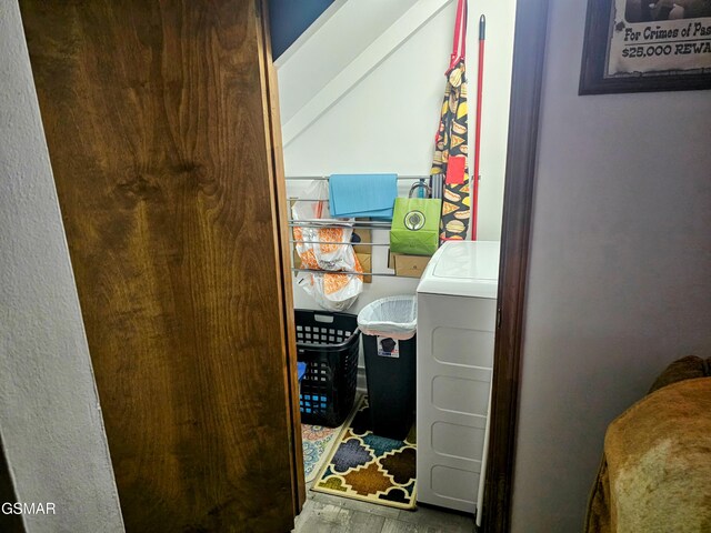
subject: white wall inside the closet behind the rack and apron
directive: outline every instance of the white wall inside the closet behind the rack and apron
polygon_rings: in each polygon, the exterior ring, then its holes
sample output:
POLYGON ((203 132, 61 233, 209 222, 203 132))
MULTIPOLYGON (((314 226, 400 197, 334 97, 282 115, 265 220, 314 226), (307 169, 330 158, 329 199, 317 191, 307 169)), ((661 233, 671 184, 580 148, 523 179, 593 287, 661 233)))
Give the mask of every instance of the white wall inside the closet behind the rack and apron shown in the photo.
MULTIPOLYGON (((341 3, 339 9, 330 8, 334 12, 326 13, 330 14, 329 20, 309 34, 310 39, 298 41, 297 50, 287 51, 279 60, 279 92, 284 124, 298 112, 299 102, 302 104, 309 94, 313 95, 342 69, 347 69, 356 60, 356 52, 362 52, 387 33, 392 24, 398 24, 401 18, 410 17, 408 10, 417 11, 422 6, 435 4, 431 0, 359 0, 341 3), (326 77, 326 73, 329 76, 326 77)), ((488 20, 479 239, 499 240, 515 1, 469 3, 467 63, 472 154, 479 16, 483 12, 488 20)), ((457 1, 451 0, 288 143, 284 150, 287 177, 357 172, 429 175, 444 91, 444 71, 452 47, 455 9, 457 1)), ((473 172, 473 157, 470 157, 470 169, 473 172)), ((290 190, 294 192, 298 189, 290 187, 290 190)), ((407 191, 401 192, 404 194, 407 191)), ((388 232, 378 232, 375 241, 388 242, 388 232)), ((379 248, 374 252, 377 272, 387 272, 385 250, 379 248)), ((413 294, 417 283, 418 280, 404 278, 375 278, 348 312, 357 313, 367 303, 385 295, 413 294)), ((296 285, 294 302, 297 308, 316 306, 313 300, 296 285)))

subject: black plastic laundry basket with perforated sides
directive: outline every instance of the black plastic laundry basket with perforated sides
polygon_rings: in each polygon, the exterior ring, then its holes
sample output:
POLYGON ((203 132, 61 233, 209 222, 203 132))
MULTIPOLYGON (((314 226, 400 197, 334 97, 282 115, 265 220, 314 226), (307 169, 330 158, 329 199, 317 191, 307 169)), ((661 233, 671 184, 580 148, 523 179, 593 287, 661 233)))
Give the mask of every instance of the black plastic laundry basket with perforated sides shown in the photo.
POLYGON ((353 314, 296 310, 301 422, 336 428, 353 408, 360 331, 353 314))

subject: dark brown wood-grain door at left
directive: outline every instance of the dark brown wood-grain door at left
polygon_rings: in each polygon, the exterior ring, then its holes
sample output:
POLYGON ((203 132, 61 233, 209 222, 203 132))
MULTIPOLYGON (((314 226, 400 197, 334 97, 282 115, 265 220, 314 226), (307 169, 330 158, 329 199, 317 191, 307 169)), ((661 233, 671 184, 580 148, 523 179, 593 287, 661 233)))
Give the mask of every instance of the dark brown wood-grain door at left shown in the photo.
POLYGON ((20 4, 127 530, 289 531, 301 444, 259 3, 20 4))

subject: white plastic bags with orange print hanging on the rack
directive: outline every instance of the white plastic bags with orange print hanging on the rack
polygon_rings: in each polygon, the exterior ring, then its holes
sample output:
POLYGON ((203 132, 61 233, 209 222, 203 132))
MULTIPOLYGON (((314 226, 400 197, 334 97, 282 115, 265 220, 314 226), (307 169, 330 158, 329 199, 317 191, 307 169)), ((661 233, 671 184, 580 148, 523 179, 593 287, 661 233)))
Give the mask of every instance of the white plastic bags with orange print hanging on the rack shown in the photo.
MULTIPOLYGON (((294 222, 310 220, 328 224, 328 228, 296 227, 293 237, 297 253, 304 269, 323 270, 324 273, 302 272, 297 276, 301 286, 316 302, 329 311, 346 311, 363 291, 361 275, 338 272, 362 272, 363 269, 350 244, 353 233, 352 219, 331 219, 328 209, 329 187, 323 180, 314 180, 304 192, 314 201, 297 201, 291 208, 294 222), (302 241, 302 242, 299 242, 302 241)), ((310 225, 316 225, 312 223, 310 225)))

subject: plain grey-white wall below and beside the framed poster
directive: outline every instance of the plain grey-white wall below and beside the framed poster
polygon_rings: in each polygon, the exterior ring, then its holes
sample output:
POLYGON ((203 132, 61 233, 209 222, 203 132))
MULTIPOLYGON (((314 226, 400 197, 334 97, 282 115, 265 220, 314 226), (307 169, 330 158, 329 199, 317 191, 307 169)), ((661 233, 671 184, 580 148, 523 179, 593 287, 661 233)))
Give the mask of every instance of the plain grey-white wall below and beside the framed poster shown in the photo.
POLYGON ((581 531, 607 424, 711 355, 711 92, 578 97, 587 3, 551 0, 515 533, 581 531))

